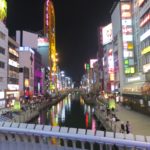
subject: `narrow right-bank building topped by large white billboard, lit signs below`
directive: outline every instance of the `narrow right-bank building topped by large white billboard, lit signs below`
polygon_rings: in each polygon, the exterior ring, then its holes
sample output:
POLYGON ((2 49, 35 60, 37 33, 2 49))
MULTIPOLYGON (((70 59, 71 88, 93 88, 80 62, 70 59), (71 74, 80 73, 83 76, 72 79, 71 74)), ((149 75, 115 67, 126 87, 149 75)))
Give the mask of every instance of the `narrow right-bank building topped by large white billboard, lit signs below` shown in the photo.
POLYGON ((112 45, 112 24, 102 28, 104 91, 107 93, 118 90, 114 77, 114 53, 112 45))

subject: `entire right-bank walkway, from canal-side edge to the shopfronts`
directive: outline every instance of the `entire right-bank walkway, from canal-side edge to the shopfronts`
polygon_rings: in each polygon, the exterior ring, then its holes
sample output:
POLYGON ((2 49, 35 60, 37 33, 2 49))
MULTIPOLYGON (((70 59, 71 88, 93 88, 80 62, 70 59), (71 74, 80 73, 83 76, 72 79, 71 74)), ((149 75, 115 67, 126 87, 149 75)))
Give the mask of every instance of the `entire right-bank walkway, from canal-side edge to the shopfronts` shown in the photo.
POLYGON ((106 107, 103 108, 104 100, 98 99, 97 102, 99 106, 96 107, 96 116, 106 130, 120 132, 121 123, 125 125, 129 121, 132 134, 150 136, 150 116, 131 110, 120 103, 115 110, 115 115, 120 121, 114 122, 111 114, 107 116, 106 107))

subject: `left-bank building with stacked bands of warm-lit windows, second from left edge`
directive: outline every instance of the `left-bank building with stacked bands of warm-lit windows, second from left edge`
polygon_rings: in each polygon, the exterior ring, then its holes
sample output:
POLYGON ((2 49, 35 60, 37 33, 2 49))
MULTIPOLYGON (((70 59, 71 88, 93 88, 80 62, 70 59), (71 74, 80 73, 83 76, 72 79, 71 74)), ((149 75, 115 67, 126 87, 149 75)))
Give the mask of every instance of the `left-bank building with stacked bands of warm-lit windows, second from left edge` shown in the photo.
POLYGON ((13 105, 15 100, 19 100, 19 53, 17 51, 19 44, 12 38, 8 37, 8 72, 7 72, 7 89, 5 96, 7 107, 13 105))

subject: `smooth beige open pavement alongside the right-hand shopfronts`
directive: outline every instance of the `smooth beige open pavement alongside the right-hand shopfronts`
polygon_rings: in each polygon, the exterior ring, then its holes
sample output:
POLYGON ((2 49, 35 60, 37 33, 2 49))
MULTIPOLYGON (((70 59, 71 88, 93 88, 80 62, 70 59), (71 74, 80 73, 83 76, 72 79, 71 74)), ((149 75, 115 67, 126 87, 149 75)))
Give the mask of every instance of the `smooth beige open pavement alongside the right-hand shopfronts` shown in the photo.
POLYGON ((134 135, 150 136, 150 116, 130 110, 121 104, 117 105, 116 116, 120 119, 117 123, 118 127, 121 121, 131 123, 131 133, 134 135))

